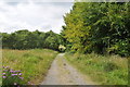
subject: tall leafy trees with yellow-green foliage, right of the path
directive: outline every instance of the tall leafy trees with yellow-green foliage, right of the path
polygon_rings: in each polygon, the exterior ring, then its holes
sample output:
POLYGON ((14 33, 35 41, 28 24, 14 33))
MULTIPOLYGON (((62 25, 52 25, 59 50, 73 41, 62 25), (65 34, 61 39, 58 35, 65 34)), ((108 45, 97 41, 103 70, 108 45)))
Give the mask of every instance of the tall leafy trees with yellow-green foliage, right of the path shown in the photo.
POLYGON ((73 52, 130 55, 129 2, 76 2, 62 35, 73 52))

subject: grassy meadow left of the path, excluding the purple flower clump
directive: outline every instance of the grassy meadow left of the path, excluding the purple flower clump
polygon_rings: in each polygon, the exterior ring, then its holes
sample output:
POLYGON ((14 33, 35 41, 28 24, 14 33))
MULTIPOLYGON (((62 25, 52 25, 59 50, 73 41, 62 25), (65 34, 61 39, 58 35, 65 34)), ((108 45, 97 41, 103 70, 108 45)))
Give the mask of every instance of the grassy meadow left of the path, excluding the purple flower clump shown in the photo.
POLYGON ((47 49, 2 50, 2 64, 22 71, 23 83, 39 84, 46 76, 57 52, 47 49))

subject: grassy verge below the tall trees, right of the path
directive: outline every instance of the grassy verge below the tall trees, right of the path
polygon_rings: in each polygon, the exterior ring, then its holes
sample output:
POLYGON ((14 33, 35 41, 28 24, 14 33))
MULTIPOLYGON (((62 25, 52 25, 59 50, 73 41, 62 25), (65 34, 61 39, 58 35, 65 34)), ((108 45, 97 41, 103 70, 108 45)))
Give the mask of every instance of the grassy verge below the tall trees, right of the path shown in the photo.
POLYGON ((118 55, 66 53, 69 63, 102 85, 128 84, 128 59, 118 55))

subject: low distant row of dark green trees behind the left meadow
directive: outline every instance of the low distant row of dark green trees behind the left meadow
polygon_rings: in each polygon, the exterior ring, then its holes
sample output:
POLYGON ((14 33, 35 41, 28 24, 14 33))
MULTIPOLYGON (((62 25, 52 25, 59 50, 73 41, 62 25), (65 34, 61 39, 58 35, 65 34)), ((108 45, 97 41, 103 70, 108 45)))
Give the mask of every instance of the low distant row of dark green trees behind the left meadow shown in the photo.
POLYGON ((36 49, 47 48, 52 50, 58 50, 58 46, 63 42, 61 35, 43 32, 29 32, 27 29, 17 30, 15 33, 6 34, 1 33, 2 48, 3 49, 36 49))

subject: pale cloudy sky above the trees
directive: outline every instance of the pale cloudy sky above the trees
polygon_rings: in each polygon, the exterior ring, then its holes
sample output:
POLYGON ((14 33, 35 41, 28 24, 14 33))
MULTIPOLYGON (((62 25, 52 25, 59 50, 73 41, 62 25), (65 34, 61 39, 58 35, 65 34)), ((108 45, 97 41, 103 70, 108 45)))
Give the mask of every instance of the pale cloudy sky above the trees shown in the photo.
POLYGON ((64 25, 63 15, 68 13, 72 7, 73 1, 0 0, 0 32, 38 29, 60 34, 64 25))

